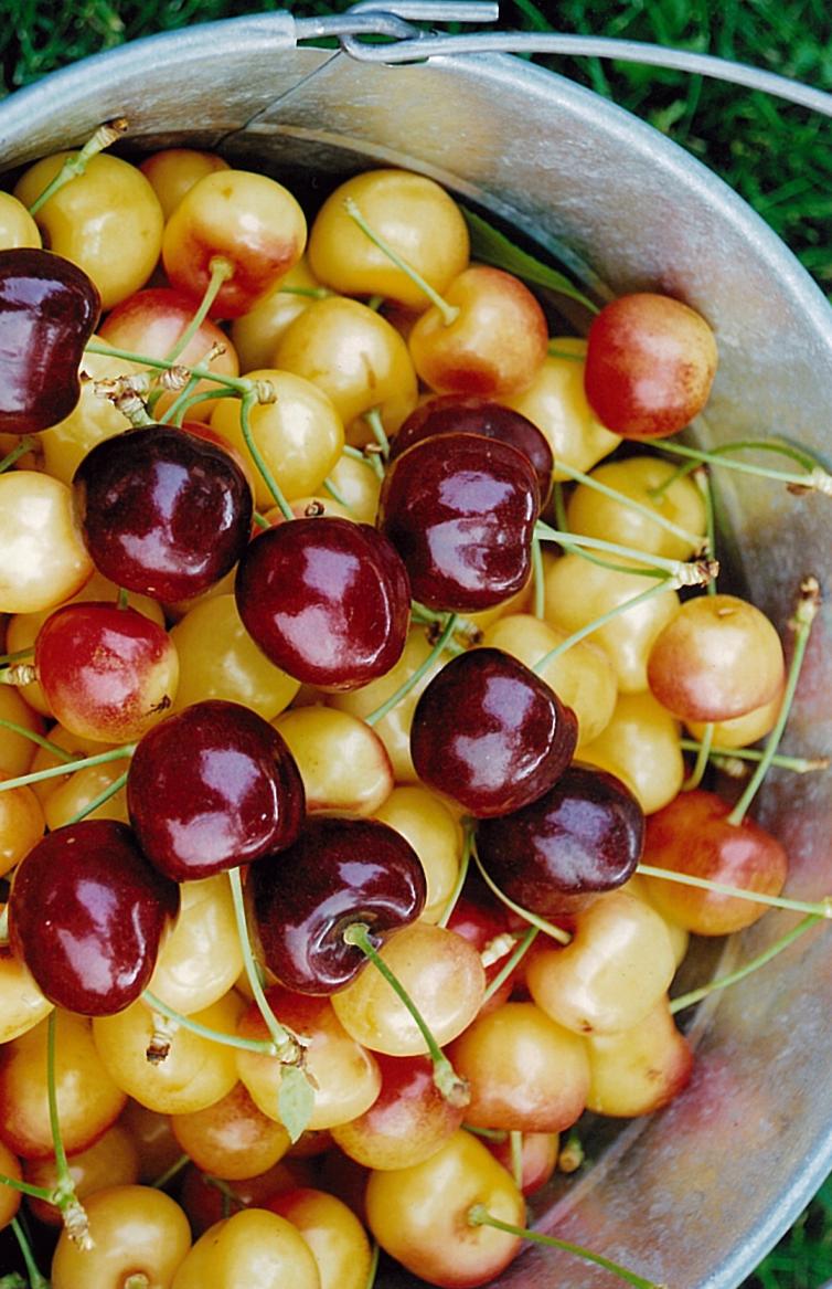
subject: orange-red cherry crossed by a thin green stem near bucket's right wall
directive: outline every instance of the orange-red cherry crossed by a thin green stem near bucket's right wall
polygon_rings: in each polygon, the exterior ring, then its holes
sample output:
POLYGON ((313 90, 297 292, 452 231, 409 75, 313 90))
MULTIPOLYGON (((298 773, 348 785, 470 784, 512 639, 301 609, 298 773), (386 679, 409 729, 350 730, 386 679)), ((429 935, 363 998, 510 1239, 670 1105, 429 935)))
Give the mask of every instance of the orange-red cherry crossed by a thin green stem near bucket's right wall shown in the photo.
MULTIPOLYGON (((644 862, 671 873, 778 896, 788 874, 786 851, 753 820, 734 822, 730 804, 697 789, 680 793, 648 820, 644 862)), ((765 905, 719 891, 647 878, 650 901, 667 918, 701 936, 748 927, 765 905)))

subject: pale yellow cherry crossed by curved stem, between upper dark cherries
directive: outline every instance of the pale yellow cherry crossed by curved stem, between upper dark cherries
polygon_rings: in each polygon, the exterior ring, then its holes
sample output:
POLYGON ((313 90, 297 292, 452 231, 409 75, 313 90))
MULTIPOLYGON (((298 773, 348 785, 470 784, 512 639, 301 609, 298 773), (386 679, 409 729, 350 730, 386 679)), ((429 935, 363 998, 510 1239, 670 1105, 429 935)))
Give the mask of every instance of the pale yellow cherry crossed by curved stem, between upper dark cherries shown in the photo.
MULTIPOLYGON (((337 407, 304 373, 260 367, 246 373, 246 378, 267 382, 274 391, 274 402, 251 409, 251 434, 283 496, 292 501, 316 492, 344 450, 344 422, 337 407)), ((240 398, 219 400, 211 428, 250 464, 255 476, 255 503, 268 509, 274 498, 246 445, 240 398)))

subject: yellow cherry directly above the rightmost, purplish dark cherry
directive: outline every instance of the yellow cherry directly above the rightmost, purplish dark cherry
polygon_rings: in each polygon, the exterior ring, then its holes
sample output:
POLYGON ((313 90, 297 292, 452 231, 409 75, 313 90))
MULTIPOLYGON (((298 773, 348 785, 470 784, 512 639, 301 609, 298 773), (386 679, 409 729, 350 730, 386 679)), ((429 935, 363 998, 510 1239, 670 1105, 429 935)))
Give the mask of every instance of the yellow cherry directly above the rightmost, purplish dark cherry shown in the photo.
POLYGON ((685 777, 679 722, 647 690, 618 696, 612 719, 581 759, 621 779, 645 815, 676 797, 685 777))

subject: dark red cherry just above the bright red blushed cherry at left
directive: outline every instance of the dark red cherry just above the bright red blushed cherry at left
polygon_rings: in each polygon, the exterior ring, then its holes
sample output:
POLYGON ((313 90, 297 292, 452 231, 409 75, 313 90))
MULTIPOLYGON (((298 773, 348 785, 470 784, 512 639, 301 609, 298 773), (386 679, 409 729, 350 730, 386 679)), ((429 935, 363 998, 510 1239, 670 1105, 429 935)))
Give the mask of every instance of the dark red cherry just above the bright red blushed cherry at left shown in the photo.
POLYGON ((73 478, 93 562, 155 599, 198 596, 237 563, 251 534, 251 489, 218 443, 171 425, 107 438, 73 478))

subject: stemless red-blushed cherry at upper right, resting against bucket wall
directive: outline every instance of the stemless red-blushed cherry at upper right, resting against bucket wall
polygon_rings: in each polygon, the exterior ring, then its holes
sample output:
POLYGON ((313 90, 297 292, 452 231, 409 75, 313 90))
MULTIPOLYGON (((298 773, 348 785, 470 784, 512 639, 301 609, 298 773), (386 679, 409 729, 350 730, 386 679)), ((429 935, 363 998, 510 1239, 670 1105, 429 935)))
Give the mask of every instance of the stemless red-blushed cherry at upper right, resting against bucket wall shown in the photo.
POLYGON ((716 339, 701 313, 650 291, 622 295, 592 320, 586 397, 614 433, 663 438, 702 411, 716 365, 716 339))

